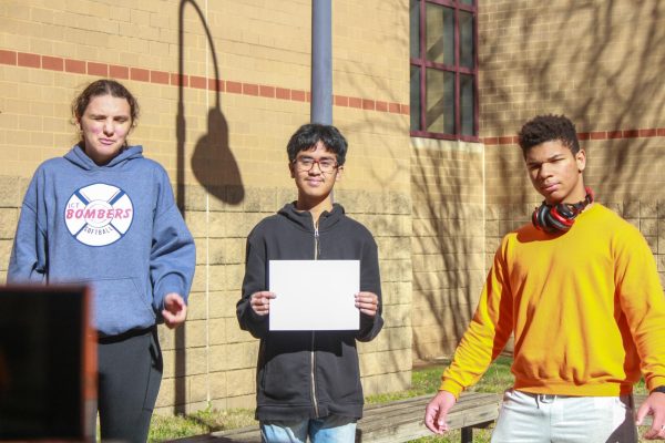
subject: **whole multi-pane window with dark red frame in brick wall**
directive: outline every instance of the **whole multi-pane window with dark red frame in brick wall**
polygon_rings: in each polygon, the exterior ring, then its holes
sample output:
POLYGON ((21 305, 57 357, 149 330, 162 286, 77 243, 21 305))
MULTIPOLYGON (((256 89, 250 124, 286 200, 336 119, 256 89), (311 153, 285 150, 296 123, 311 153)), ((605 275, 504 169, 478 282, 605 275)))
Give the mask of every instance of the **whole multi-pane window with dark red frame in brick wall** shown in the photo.
POLYGON ((411 135, 478 140, 477 0, 410 0, 411 135))

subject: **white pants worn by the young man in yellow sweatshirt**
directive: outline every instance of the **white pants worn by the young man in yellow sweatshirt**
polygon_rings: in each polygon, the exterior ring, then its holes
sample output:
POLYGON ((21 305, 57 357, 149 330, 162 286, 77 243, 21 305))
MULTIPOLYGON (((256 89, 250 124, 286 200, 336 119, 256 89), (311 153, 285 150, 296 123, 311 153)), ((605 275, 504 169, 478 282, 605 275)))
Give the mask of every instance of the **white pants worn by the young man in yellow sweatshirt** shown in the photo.
POLYGON ((636 443, 632 395, 566 396, 508 390, 492 443, 636 443))

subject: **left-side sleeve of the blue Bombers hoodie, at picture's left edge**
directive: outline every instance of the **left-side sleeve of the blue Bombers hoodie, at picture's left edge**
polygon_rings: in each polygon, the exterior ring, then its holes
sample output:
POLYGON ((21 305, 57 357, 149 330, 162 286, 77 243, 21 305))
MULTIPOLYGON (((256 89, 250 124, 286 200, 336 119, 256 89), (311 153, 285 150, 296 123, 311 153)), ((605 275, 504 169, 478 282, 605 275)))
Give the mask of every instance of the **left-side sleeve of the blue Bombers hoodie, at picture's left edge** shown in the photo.
POLYGON ((47 229, 39 217, 39 171, 32 177, 17 226, 14 243, 9 258, 8 284, 45 284, 48 277, 47 229))

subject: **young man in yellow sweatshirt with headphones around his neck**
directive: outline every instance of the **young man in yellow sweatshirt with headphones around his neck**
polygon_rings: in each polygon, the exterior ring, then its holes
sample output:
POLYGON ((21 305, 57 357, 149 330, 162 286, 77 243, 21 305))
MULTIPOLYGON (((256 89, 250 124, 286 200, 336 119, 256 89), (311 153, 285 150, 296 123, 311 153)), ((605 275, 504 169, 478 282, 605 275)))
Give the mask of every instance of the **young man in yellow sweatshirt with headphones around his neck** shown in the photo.
POLYGON ((586 154, 565 116, 538 116, 520 146, 544 197, 532 224, 508 234, 426 425, 446 416, 514 333, 515 384, 492 442, 637 442, 635 419, 665 439, 665 297, 644 237, 585 188, 586 154), (651 394, 637 411, 633 385, 651 394))

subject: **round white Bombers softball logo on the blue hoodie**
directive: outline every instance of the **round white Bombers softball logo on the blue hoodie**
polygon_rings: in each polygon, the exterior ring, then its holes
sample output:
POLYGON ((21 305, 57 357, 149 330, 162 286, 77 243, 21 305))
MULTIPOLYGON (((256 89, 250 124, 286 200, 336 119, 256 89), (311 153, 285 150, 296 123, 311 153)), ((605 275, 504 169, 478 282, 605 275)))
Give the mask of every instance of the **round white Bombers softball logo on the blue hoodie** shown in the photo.
POLYGON ((106 246, 121 239, 134 219, 124 190, 95 183, 75 190, 64 207, 64 223, 74 238, 88 246, 106 246))

